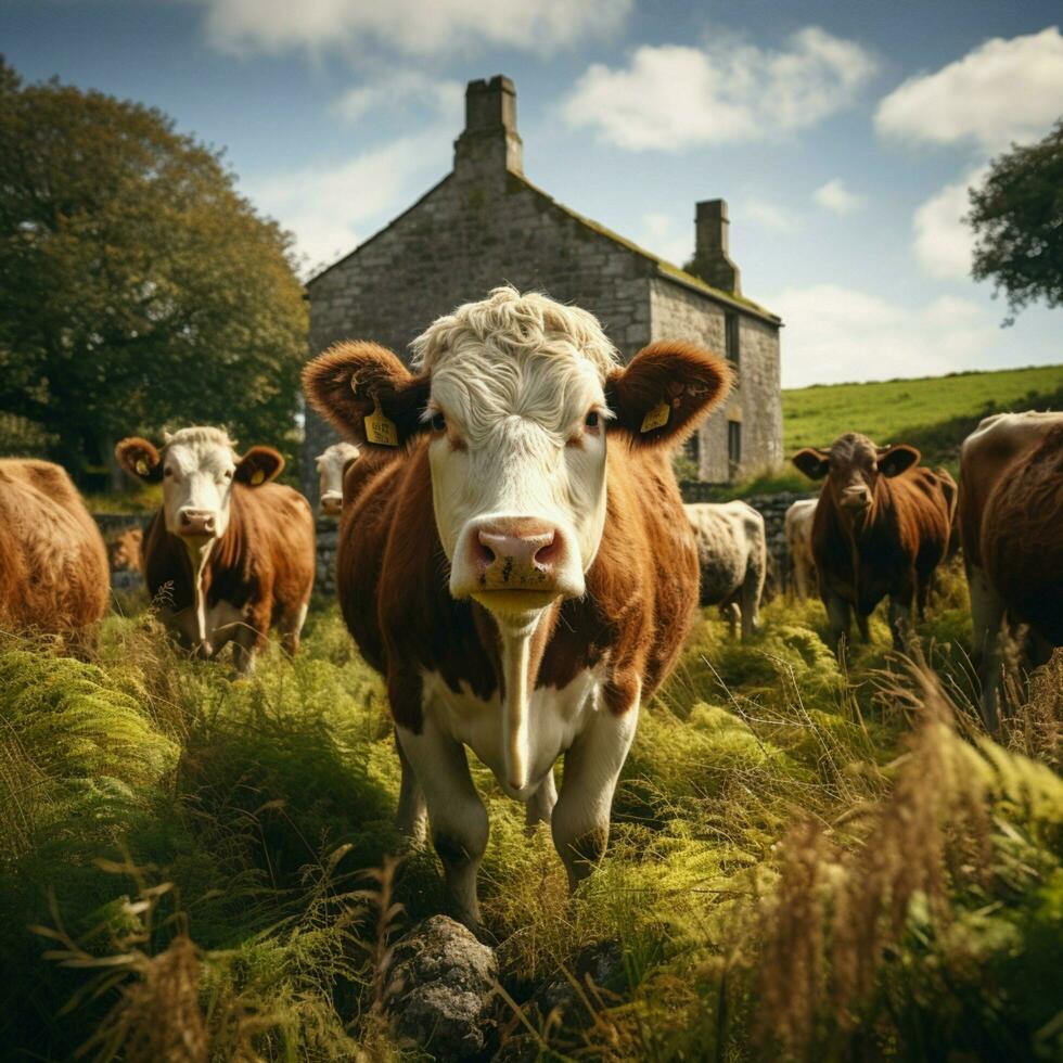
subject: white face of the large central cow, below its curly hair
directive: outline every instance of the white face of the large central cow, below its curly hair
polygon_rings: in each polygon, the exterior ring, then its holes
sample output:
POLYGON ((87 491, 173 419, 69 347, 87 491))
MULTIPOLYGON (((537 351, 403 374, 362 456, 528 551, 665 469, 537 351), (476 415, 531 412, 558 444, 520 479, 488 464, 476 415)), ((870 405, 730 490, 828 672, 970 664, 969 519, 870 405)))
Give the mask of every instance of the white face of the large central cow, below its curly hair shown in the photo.
POLYGON ((425 419, 450 591, 503 615, 584 592, 605 521, 605 406, 571 345, 437 357, 425 419), (568 349, 564 349, 565 347, 568 349))

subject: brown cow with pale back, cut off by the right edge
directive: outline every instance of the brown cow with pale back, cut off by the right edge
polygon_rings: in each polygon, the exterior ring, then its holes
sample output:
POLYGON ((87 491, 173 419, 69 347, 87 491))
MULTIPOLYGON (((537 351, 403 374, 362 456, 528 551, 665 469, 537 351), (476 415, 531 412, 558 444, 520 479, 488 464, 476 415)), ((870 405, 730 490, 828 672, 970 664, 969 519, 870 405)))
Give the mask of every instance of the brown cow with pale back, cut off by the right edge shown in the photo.
POLYGON ((1028 625, 1030 666, 1063 645, 1063 413, 998 413, 966 437, 959 525, 982 713, 996 731, 1006 617, 1028 625))

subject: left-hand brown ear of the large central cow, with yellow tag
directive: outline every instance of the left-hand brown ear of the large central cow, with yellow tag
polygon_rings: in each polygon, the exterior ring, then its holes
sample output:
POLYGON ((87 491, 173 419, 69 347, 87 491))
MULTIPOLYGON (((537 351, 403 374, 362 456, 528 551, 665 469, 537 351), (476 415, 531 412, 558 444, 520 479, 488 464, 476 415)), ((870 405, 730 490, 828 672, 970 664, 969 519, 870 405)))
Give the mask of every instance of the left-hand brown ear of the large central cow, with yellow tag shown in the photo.
POLYGON ((303 387, 310 406, 359 446, 397 447, 427 428, 427 374, 413 376, 380 344, 336 344, 303 370, 303 387))

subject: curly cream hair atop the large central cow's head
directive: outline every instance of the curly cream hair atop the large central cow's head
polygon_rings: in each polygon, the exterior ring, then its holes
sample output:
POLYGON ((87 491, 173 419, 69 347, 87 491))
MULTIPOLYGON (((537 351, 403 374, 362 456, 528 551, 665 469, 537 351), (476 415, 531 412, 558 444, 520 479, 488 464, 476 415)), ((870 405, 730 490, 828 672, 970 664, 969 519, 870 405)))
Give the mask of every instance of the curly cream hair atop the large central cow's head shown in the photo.
POLYGON ((411 344, 413 366, 431 372, 447 354, 482 353, 492 361, 585 358, 604 383, 619 358, 598 319, 538 292, 496 287, 486 299, 466 303, 438 318, 411 344))

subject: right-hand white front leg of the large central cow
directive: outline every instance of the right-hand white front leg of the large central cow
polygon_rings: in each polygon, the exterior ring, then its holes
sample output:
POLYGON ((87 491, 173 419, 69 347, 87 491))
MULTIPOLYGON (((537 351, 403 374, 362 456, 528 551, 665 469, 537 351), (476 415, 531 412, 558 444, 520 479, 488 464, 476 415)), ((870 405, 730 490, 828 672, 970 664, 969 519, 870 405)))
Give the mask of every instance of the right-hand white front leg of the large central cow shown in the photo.
POLYGON ((628 690, 626 704, 617 706, 616 712, 606 704, 599 705, 565 754, 561 795, 550 825, 571 889, 590 874, 609 843, 616 780, 639 722, 641 683, 635 680, 628 690))

